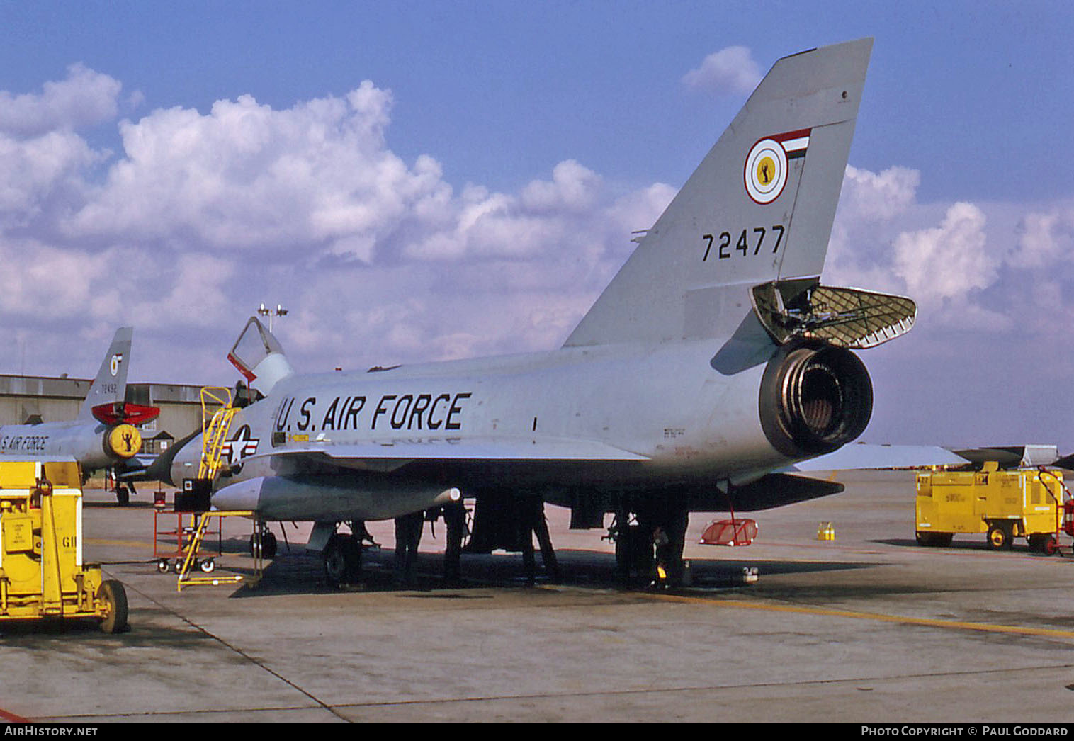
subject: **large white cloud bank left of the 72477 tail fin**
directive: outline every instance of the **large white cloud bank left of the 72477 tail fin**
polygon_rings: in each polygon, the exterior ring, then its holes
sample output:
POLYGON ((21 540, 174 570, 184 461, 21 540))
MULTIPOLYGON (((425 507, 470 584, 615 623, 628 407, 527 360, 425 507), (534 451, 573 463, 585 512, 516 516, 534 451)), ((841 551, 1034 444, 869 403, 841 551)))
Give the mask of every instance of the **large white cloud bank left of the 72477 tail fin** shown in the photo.
POLYGON ((222 366, 261 302, 291 309, 277 332, 309 369, 553 347, 672 195, 613 194, 576 160, 514 193, 456 191, 434 157, 388 148, 392 93, 371 82, 286 110, 156 110, 96 151, 77 129, 118 117, 110 79, 72 68, 19 102, 18 135, 0 129, 0 314, 67 336, 133 321, 169 378, 222 366), (211 337, 214 355, 176 352, 211 337))

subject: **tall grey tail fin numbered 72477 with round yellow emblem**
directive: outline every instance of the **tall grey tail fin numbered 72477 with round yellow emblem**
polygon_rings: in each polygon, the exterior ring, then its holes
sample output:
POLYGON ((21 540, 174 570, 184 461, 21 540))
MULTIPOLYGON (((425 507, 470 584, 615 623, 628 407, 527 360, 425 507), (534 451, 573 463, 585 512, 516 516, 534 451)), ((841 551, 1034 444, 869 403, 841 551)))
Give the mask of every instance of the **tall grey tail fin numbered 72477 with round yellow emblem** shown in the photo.
POLYGON ((775 62, 566 346, 720 336, 821 275, 872 39, 775 62))

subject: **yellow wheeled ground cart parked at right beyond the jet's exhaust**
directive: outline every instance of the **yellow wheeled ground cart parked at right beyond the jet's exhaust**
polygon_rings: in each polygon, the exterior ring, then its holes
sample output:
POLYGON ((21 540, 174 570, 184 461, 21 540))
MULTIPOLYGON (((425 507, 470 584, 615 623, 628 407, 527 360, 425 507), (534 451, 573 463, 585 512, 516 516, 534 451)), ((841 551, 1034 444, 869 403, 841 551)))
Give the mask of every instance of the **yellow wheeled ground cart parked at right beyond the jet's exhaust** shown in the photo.
POLYGON ((1058 470, 1001 470, 995 462, 975 471, 918 474, 917 542, 948 546, 957 533, 986 533, 997 550, 1026 538, 1032 550, 1055 553, 1063 491, 1058 470))

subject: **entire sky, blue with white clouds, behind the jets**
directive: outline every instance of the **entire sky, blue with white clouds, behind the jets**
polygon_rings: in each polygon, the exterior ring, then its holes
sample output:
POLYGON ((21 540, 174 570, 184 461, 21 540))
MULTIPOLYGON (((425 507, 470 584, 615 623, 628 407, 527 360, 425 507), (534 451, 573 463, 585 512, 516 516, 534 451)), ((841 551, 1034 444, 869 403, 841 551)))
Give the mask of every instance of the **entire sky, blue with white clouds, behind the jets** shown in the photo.
POLYGON ((305 369, 555 347, 745 100, 687 73, 870 35, 825 279, 921 314, 862 353, 865 438, 1074 450, 1066 3, 0 2, 0 373, 90 375, 130 322, 134 376, 230 382, 261 302, 305 369))

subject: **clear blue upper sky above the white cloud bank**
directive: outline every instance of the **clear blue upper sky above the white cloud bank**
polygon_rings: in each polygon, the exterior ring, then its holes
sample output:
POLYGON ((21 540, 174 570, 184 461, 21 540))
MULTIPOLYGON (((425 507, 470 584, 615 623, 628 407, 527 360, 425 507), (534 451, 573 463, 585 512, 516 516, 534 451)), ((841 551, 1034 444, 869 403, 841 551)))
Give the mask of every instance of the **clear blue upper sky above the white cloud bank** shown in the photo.
POLYGON ((490 187, 517 187, 568 158, 628 184, 681 183, 743 96, 713 99, 676 83, 731 45, 767 69, 794 50, 874 37, 869 126, 852 159, 937 172, 923 181, 928 198, 1054 192, 1024 143, 1063 141, 1072 117, 1063 71, 1074 11, 1060 1, 0 8, 10 91, 39 89, 73 61, 141 91, 142 114, 204 112, 242 93, 288 107, 371 79, 395 95, 394 151, 433 154, 453 181, 490 187), (953 158, 960 166, 941 164, 953 158))

